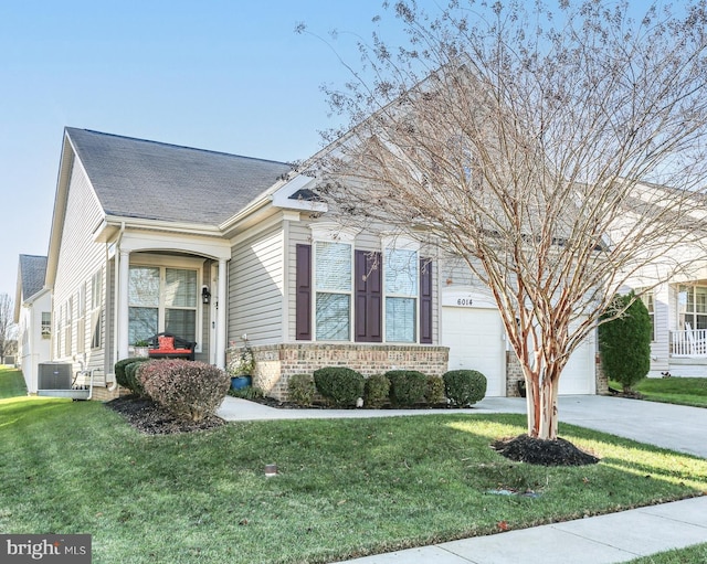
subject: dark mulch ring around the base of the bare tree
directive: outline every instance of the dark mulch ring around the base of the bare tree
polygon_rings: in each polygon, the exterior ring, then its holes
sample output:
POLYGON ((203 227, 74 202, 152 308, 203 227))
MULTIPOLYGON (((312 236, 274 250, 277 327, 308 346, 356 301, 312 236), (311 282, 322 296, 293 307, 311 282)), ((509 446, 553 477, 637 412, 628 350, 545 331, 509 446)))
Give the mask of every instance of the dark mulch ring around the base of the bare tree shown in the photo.
POLYGON ((599 462, 599 458, 580 450, 563 438, 542 440, 518 435, 496 440, 492 448, 510 460, 539 466, 585 466, 599 462))

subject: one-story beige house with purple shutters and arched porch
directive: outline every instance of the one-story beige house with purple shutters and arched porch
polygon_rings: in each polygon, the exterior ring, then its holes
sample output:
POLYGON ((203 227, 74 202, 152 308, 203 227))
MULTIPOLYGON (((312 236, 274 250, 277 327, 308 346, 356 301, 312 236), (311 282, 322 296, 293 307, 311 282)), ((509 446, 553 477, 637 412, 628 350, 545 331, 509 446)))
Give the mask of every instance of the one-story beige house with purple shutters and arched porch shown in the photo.
MULTIPOLYGON (((334 223, 314 182, 284 162, 66 128, 45 283, 52 360, 102 371, 94 397, 109 397, 113 364, 139 339, 170 331, 224 366, 245 336, 254 382, 276 397, 325 365, 469 368, 488 395, 515 393, 484 289, 416 241, 334 223)), ((593 342, 567 372, 561 393, 597 392, 593 342)))

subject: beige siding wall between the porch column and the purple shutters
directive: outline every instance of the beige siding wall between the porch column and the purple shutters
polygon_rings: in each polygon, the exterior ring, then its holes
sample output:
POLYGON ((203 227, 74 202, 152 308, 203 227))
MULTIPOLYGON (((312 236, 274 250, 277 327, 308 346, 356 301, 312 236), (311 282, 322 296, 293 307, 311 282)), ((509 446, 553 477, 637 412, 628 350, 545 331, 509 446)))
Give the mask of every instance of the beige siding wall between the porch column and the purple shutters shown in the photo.
POLYGON ((234 244, 229 270, 230 341, 240 341, 244 333, 251 344, 283 341, 283 242, 278 224, 234 244))

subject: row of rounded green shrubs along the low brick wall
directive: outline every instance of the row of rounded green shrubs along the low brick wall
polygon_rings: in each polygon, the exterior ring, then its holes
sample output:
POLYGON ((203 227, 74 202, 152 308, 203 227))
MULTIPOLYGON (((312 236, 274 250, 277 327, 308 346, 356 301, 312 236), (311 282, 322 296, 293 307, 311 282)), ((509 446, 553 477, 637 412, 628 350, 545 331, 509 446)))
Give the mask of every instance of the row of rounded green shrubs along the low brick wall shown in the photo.
POLYGON ((312 405, 318 392, 336 407, 360 405, 380 408, 412 407, 419 404, 447 403, 466 407, 486 395, 486 377, 476 370, 452 370, 442 376, 425 375, 415 370, 392 370, 368 379, 344 366, 326 366, 313 375, 295 374, 288 382, 289 401, 312 405))

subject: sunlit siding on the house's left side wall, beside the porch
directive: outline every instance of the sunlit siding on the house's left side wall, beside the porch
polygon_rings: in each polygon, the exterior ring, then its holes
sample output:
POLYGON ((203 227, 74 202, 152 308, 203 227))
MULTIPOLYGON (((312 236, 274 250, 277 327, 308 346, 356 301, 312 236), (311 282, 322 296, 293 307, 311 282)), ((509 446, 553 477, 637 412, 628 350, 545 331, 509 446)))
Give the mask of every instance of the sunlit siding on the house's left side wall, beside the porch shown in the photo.
MULTIPOLYGON (((92 279, 97 270, 103 270, 106 263, 106 248, 102 243, 95 243, 93 232, 96 225, 103 220, 103 212, 98 205, 98 201, 91 188, 83 168, 78 162, 74 162, 71 179, 68 183, 68 195, 66 201, 66 216, 61 234, 61 251, 56 265, 56 278, 54 281, 54 311, 53 318, 56 320, 56 329, 63 323, 66 317, 60 319, 57 315, 60 306, 64 309, 64 316, 67 315, 67 304, 73 298, 74 305, 80 294, 80 288, 92 279)), ((86 296, 86 299, 89 299, 86 296)), ((73 347, 74 352, 77 350, 77 339, 80 336, 78 317, 72 316, 72 328, 70 334, 67 331, 56 332, 53 338, 55 341, 53 360, 70 360, 72 355, 68 352, 73 347)), ((65 329, 64 326, 61 326, 65 329)), ((85 332, 85 339, 88 339, 88 332, 85 332)), ((88 351, 88 342, 85 349, 88 351)), ((106 364, 106 358, 103 349, 86 352, 87 368, 101 369, 105 373, 112 373, 112 366, 106 364)))

